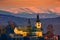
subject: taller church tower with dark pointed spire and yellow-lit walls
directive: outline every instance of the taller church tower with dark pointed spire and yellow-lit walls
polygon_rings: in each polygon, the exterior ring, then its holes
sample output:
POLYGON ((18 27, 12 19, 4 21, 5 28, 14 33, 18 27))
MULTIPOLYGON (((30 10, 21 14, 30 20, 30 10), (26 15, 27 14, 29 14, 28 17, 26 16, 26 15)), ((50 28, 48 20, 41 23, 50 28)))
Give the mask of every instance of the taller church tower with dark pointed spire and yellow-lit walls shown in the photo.
POLYGON ((36 18, 35 27, 36 27, 36 36, 37 37, 42 37, 43 36, 43 30, 42 30, 42 27, 41 27, 41 22, 40 22, 38 14, 37 14, 37 18, 36 18))

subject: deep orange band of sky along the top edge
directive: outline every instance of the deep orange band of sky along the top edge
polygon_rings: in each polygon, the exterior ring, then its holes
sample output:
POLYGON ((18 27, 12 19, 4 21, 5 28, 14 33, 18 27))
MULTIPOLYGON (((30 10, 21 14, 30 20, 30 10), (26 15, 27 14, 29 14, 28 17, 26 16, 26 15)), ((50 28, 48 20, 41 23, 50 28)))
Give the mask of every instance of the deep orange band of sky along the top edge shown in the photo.
POLYGON ((54 7, 60 6, 57 0, 3 0, 0 1, 0 7, 54 7))

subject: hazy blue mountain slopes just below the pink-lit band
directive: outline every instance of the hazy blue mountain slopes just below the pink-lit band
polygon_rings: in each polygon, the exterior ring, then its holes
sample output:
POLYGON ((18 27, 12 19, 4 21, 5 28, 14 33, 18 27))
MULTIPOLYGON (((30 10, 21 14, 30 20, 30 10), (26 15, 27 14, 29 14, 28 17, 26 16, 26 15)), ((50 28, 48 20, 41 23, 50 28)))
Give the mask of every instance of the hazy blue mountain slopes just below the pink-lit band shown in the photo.
MULTIPOLYGON (((12 16, 24 17, 24 18, 36 18, 36 15, 37 15, 36 13, 29 14, 27 12, 20 12, 20 13, 14 14, 14 13, 11 13, 8 11, 3 11, 3 10, 0 10, 0 14, 12 15, 12 16)), ((56 13, 51 12, 51 11, 49 11, 49 13, 38 13, 38 14, 41 19, 43 19, 43 18, 56 18, 56 17, 60 16, 60 15, 57 15, 56 13)))

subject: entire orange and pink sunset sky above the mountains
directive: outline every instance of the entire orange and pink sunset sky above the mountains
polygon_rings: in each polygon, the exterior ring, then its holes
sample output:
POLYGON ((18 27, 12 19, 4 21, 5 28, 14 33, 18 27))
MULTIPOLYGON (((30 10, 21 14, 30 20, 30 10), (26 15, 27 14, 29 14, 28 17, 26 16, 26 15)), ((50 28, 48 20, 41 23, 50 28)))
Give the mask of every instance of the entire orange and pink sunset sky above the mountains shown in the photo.
POLYGON ((24 12, 26 8, 33 12, 46 12, 47 9, 60 13, 60 0, 0 0, 0 10, 9 12, 24 12))

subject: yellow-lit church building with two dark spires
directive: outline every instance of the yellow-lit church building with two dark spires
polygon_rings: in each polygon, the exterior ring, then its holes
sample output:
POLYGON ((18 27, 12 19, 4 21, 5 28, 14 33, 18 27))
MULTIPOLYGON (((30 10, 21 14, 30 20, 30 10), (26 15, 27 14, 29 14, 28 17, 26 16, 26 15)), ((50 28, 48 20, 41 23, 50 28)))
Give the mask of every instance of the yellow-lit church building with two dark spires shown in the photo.
POLYGON ((37 15, 36 24, 34 27, 31 26, 30 19, 28 19, 28 24, 26 27, 20 27, 20 29, 15 27, 14 32, 16 34, 22 34, 23 36, 35 35, 36 37, 42 37, 43 36, 43 30, 41 27, 41 22, 39 20, 39 15, 37 15), (32 30, 35 30, 35 31, 32 31, 32 30))

